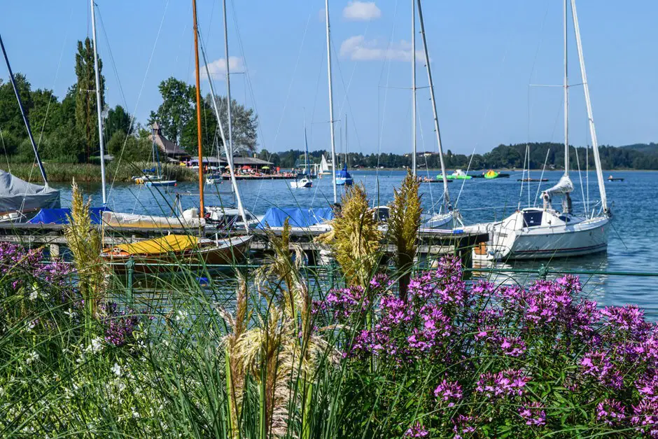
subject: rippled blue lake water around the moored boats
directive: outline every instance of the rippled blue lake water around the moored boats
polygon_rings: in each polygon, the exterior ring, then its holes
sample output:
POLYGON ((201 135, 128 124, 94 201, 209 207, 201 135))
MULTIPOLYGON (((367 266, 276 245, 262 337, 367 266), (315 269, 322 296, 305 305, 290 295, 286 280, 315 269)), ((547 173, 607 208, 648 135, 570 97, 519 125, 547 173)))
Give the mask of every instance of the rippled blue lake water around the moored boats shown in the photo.
MULTIPOLYGON (((426 172, 421 171, 424 175, 426 172)), ((430 172, 435 176, 436 172, 430 172)), ((510 172, 509 179, 472 179, 454 181, 449 184, 451 200, 456 202, 464 218, 465 224, 482 221, 492 221, 511 214, 519 202, 522 207, 528 205, 528 183, 524 183, 523 193, 520 172, 510 172)), ((547 265, 552 270, 596 270, 599 272, 658 272, 658 172, 607 172, 622 177, 624 181, 605 183, 608 193, 608 204, 612 209, 612 228, 608 253, 580 258, 552 260, 547 265)), ((363 183, 374 204, 386 204, 393 197, 393 188, 400 186, 405 176, 402 171, 353 171, 356 182, 363 183)), ((533 178, 539 178, 540 172, 532 172, 533 178)), ((540 183, 541 188, 548 188, 559 180, 561 172, 545 172, 546 183, 540 183)), ((584 209, 583 200, 587 200, 587 190, 584 197, 581 187, 587 187, 587 178, 582 173, 582 186, 577 172, 571 175, 575 183, 572 194, 574 211, 584 209)), ((530 200, 535 202, 539 183, 531 183, 530 200)), ((53 185, 55 186, 55 185, 53 185)), ((62 189, 64 206, 70 201, 69 186, 62 189)), ((332 203, 333 193, 331 179, 314 180, 313 188, 291 189, 288 181, 240 181, 240 193, 246 209, 253 214, 264 214, 269 207, 328 207, 332 203)), ((86 195, 92 195, 92 205, 100 204, 101 193, 99 185, 84 187, 86 195)), ((190 193, 183 195, 183 207, 198 204, 198 190, 195 183, 179 183, 175 192, 190 193)), ((218 194, 230 192, 230 183, 225 181, 216 187, 206 188, 206 204, 232 203, 231 195, 218 194)), ((339 191, 342 190, 339 188, 339 191)), ((431 211, 433 203, 441 200, 442 184, 422 184, 423 207, 431 211)), ((589 173, 589 211, 598 211, 598 186, 596 174, 589 173)), ((136 214, 170 214, 174 200, 172 193, 162 193, 156 188, 146 188, 132 184, 117 184, 109 192, 108 205, 115 211, 134 212, 136 214)), ((514 263, 514 268, 538 270, 546 261, 524 261, 514 263)), ((500 267, 500 265, 499 265, 500 267)), ((507 266, 505 266, 507 267, 507 266)), ((526 281, 534 275, 516 274, 514 281, 526 281)), ((510 281, 506 276, 498 276, 500 281, 510 281)), ((585 291, 603 305, 625 305, 636 303, 645 308, 647 316, 658 319, 658 277, 608 276, 596 274, 582 275, 586 283, 585 291)))

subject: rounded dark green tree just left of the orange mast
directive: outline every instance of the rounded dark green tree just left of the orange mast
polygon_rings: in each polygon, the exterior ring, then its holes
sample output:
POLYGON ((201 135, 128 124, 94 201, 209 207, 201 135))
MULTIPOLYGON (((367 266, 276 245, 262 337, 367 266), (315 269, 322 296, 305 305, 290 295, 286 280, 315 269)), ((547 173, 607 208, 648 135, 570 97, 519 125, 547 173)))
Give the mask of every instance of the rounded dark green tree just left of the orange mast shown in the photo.
POLYGON ((195 88, 172 77, 162 81, 158 90, 162 104, 151 111, 148 123, 157 122, 167 139, 181 144, 183 128, 195 117, 195 88))

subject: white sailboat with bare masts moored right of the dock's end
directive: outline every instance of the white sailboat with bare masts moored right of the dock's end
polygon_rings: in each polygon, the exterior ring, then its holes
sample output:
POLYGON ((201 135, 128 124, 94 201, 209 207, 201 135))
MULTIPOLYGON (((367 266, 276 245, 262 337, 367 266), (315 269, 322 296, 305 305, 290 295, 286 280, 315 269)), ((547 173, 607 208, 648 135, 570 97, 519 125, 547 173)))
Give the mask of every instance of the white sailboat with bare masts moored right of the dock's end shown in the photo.
POLYGON ((542 208, 526 207, 497 223, 475 225, 465 230, 489 232, 489 242, 486 251, 477 249, 475 256, 493 258, 495 260, 558 258, 566 256, 582 256, 606 251, 608 248, 608 231, 610 228, 610 210, 608 209, 601 159, 598 155, 598 141, 594 127, 594 117, 591 112, 589 85, 582 55, 580 40, 580 25, 575 6, 571 0, 571 15, 575 30, 575 39, 580 61, 580 74, 584 90, 589 134, 594 152, 598 190, 601 194, 601 211, 591 216, 573 214, 570 193, 573 182, 569 176, 569 139, 568 139, 568 64, 567 64, 567 13, 568 4, 563 5, 563 38, 564 38, 564 174, 559 182, 544 190, 541 194, 542 208), (552 207, 554 196, 562 198, 561 210, 552 207), (479 250, 479 251, 478 251, 479 250))

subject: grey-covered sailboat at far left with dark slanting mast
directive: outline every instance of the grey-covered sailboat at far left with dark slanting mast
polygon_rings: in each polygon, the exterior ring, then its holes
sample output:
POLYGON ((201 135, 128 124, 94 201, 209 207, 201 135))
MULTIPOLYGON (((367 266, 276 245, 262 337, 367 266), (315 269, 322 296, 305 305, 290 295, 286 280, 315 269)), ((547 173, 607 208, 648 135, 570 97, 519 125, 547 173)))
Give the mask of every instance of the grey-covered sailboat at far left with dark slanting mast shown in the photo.
POLYGON ((43 178, 43 186, 28 183, 27 181, 19 179, 17 176, 9 172, 0 171, 0 222, 20 222, 27 221, 38 213, 43 208, 58 208, 59 207, 59 190, 50 188, 48 186, 48 177, 45 175, 45 168, 38 155, 34 137, 32 137, 32 130, 29 125, 29 120, 25 115, 25 109, 20 99, 20 93, 16 87, 14 74, 9 64, 2 37, 0 36, 0 47, 2 48, 2 55, 7 64, 9 71, 9 79, 18 101, 18 108, 25 123, 27 135, 34 151, 34 158, 38 165, 41 177, 43 178))

